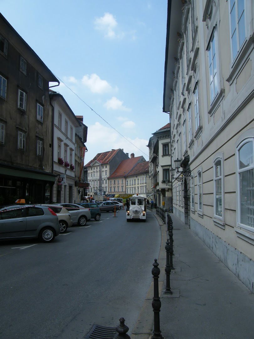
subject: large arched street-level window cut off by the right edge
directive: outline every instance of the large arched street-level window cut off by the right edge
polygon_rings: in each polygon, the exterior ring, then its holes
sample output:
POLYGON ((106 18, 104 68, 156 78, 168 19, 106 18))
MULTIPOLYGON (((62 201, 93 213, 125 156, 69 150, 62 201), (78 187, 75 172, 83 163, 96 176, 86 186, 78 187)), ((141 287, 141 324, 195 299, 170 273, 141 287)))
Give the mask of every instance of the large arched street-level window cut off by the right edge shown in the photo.
POLYGON ((245 139, 237 148, 238 222, 254 230, 254 138, 245 139))

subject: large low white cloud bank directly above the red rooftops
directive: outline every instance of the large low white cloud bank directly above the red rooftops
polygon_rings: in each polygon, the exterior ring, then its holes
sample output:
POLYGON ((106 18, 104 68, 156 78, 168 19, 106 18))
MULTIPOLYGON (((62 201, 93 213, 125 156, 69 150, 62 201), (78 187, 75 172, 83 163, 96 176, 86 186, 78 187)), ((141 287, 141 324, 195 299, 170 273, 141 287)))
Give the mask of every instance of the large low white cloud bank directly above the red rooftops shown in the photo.
MULTIPOLYGON (((126 137, 124 131, 122 132, 122 134, 126 137)), ((129 153, 129 156, 131 153, 134 153, 135 157, 143 155, 143 157, 148 160, 149 151, 148 147, 146 147, 148 140, 137 137, 135 139, 127 139, 144 153, 132 145, 128 140, 121 137, 121 135, 112 128, 103 126, 99 122, 96 122, 94 125, 89 125, 86 142, 88 152, 85 155, 85 163, 92 160, 97 153, 111 151, 111 149, 118 148, 123 148, 125 153, 129 153)))

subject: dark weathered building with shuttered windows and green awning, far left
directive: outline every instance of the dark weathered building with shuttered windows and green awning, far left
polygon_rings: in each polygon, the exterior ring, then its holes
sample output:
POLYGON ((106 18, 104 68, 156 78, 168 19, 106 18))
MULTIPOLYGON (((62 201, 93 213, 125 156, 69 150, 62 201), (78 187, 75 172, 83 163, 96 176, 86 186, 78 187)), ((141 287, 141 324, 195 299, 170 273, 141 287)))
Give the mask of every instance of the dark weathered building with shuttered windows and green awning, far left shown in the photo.
MULTIPOLYGON (((43 61, 0 14, 0 203, 45 203, 55 183, 49 82, 43 61)), ((52 84, 53 85, 53 84, 52 84)))

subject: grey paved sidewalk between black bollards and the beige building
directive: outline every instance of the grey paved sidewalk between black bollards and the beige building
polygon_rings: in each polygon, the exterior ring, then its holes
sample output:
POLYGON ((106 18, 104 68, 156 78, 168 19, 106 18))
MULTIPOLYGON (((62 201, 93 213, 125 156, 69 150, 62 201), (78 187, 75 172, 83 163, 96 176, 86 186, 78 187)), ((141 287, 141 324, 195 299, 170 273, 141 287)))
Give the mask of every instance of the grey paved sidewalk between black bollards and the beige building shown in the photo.
MULTIPOLYGON (((154 213, 155 212, 150 212, 154 213)), ((167 339, 253 339, 254 294, 174 214, 172 296, 164 294, 167 224, 158 258, 161 293, 161 334, 167 339), (161 280, 161 279, 160 279, 161 280)), ((166 218, 167 221, 167 218, 166 218)))

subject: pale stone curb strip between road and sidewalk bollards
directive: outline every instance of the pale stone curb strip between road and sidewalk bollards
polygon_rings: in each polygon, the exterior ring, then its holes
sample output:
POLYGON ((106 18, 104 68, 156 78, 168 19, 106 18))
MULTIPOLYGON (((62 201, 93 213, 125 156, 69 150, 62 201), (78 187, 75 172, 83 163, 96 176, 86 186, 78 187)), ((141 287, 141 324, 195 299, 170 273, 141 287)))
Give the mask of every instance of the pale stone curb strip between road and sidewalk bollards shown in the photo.
MULTIPOLYGON (((151 212, 151 211, 150 211, 151 212)), ((154 213, 154 212, 151 212, 154 213)), ((166 251, 163 247, 163 244, 166 244, 167 241, 167 227, 166 224, 163 224, 162 220, 156 215, 153 214, 161 228, 161 248, 160 253, 157 258, 159 263, 159 268, 161 270, 159 277, 159 295, 161 296, 165 279, 165 267, 166 267, 166 251)), ((153 280, 147 292, 145 301, 143 303, 142 309, 140 311, 139 317, 137 318, 136 324, 131 333, 131 339, 151 339, 153 331, 153 312, 152 312, 152 299, 153 299, 153 280)))

